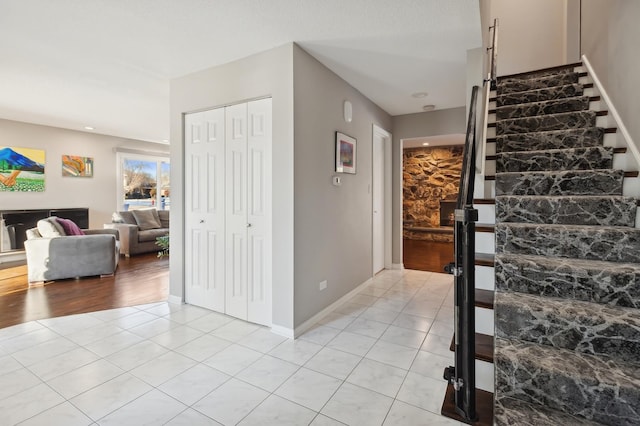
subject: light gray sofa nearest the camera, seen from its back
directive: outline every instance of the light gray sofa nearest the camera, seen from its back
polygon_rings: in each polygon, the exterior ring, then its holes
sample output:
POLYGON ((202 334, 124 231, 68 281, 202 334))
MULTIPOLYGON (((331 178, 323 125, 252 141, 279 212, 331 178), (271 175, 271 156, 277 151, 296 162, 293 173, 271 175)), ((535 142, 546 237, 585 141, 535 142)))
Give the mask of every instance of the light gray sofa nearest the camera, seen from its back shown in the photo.
MULTIPOLYGON (((43 219, 51 220, 55 221, 55 217, 43 219)), ((24 248, 27 254, 29 284, 65 278, 113 275, 120 258, 118 231, 85 229, 84 233, 86 235, 43 236, 38 228, 27 230, 24 248)))

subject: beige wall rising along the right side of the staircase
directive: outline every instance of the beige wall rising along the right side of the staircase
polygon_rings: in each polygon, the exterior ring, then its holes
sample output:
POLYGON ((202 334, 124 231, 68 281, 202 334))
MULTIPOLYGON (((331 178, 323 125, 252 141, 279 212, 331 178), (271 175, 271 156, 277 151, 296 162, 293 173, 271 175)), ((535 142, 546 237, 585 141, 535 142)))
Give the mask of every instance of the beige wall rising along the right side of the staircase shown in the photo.
POLYGON ((582 52, 640 148, 640 2, 582 0, 582 52))

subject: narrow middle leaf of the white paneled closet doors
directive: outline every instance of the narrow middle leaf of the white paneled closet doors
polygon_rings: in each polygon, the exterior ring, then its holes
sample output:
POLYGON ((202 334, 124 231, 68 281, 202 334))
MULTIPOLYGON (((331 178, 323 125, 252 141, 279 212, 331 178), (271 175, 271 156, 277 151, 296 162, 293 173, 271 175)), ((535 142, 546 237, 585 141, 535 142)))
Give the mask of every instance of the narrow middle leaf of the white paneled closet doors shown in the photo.
POLYGON ((247 319, 247 104, 225 109, 226 313, 247 319))

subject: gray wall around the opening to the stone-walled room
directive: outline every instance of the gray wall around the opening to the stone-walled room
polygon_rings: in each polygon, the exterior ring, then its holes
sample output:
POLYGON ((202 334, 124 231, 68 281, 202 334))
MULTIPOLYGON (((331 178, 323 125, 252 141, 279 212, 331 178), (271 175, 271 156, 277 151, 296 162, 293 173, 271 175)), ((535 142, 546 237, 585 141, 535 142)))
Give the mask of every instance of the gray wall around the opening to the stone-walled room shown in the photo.
MULTIPOLYGON (((393 229, 402 229, 402 139, 466 133, 466 108, 450 108, 392 117, 393 229)), ((394 235, 392 262, 402 263, 402 235, 394 235)))

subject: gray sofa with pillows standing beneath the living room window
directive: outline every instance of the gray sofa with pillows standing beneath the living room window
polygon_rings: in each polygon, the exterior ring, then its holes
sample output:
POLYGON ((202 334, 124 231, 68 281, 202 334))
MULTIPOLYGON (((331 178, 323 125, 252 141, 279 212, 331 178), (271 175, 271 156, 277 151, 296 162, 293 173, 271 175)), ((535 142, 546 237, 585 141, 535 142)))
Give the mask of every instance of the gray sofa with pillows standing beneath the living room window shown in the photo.
POLYGON ((117 212, 113 215, 113 222, 105 225, 106 228, 114 228, 120 232, 121 254, 129 257, 132 254, 160 251, 156 238, 169 233, 169 211, 149 210, 154 213, 154 216, 157 213, 159 227, 147 229, 150 225, 144 226, 138 223, 134 212, 140 213, 139 210, 117 212))

